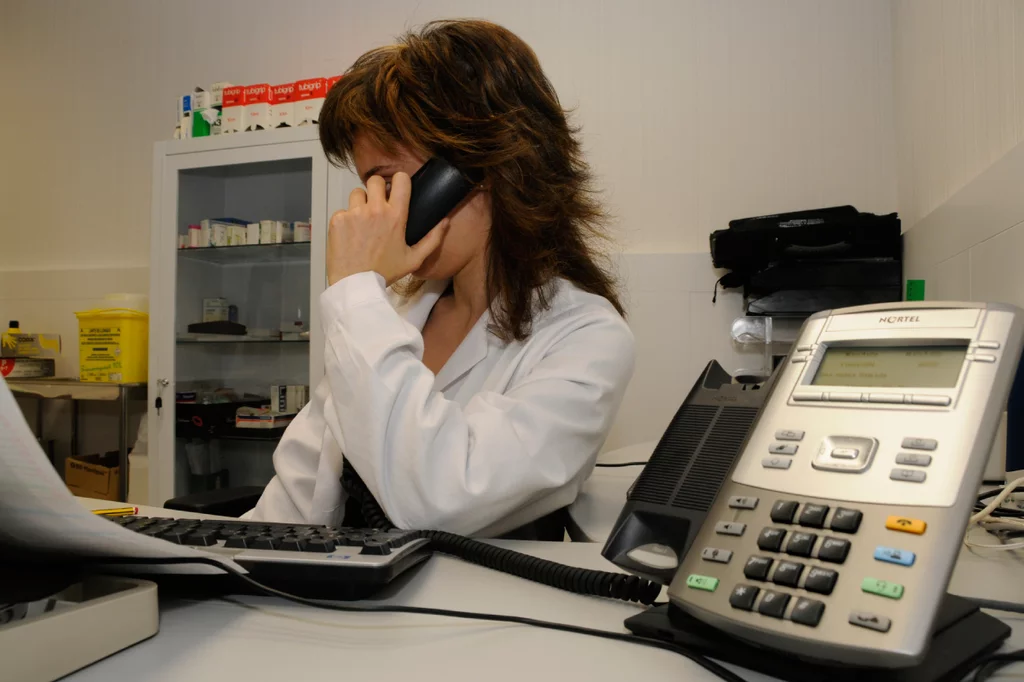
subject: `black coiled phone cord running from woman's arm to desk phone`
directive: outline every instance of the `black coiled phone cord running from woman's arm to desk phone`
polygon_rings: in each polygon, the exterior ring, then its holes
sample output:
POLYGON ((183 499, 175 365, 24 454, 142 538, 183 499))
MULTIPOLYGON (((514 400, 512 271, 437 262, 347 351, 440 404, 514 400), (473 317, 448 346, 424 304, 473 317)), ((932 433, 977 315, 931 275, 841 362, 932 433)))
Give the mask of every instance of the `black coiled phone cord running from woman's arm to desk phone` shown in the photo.
MULTIPOLYGON (((381 530, 395 528, 367 484, 347 462, 342 470, 341 486, 359 505, 362 518, 370 527, 381 530)), ((430 541, 435 551, 565 592, 635 601, 648 606, 662 592, 660 585, 636 576, 567 566, 443 530, 420 530, 419 534, 430 541)))

